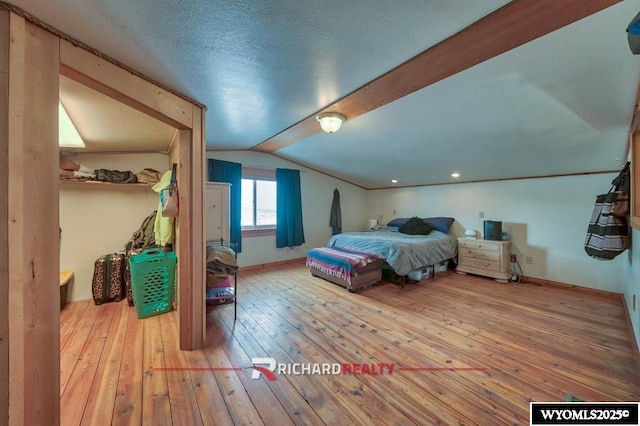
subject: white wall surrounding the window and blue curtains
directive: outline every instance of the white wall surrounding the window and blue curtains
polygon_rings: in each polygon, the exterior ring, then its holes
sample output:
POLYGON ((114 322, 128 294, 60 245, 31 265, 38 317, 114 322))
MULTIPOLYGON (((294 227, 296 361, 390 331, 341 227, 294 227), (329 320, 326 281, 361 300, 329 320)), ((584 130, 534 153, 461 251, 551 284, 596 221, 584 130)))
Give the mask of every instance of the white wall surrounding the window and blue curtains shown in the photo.
POLYGON ((314 172, 273 155, 258 152, 221 151, 208 152, 208 158, 233 161, 251 167, 269 169, 298 169, 302 188, 302 212, 305 244, 295 248, 276 248, 275 236, 245 237, 242 239, 242 253, 238 256, 240 266, 305 257, 314 247, 327 245, 331 237, 329 216, 333 190, 340 192, 342 210, 342 230, 362 231, 367 226, 366 191, 357 186, 314 172))

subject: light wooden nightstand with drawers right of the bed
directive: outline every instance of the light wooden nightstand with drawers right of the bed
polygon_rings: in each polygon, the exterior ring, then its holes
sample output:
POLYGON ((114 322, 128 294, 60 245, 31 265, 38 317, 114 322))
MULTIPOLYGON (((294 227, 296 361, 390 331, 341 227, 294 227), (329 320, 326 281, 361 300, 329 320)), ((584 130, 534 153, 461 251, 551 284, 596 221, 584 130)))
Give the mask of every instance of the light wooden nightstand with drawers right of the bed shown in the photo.
POLYGON ((508 241, 473 240, 458 238, 459 274, 475 274, 507 283, 511 279, 508 241))

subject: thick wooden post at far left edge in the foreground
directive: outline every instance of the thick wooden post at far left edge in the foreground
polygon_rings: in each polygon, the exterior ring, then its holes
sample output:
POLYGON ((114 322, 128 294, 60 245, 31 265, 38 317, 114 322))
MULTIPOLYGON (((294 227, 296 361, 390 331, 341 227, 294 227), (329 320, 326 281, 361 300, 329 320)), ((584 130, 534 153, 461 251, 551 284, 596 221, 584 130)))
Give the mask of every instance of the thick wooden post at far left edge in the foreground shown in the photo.
POLYGON ((0 423, 56 425, 59 40, 0 11, 0 54, 0 423))

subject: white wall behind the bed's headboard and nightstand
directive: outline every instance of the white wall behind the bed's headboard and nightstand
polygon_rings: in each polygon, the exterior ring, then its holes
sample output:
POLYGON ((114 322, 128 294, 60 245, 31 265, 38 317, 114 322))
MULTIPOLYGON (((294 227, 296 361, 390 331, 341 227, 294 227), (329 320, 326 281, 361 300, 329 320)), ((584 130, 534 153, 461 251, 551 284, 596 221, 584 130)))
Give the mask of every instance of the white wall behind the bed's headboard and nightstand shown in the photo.
POLYGON ((615 176, 374 190, 368 194, 368 211, 373 217, 382 215, 383 223, 413 215, 454 217, 458 236, 464 229, 482 235, 485 219, 502 221, 525 276, 622 293, 627 282, 626 253, 598 261, 584 251, 595 196, 607 192, 615 176), (480 211, 484 219, 479 218, 480 211), (525 264, 526 256, 533 258, 533 264, 525 264))

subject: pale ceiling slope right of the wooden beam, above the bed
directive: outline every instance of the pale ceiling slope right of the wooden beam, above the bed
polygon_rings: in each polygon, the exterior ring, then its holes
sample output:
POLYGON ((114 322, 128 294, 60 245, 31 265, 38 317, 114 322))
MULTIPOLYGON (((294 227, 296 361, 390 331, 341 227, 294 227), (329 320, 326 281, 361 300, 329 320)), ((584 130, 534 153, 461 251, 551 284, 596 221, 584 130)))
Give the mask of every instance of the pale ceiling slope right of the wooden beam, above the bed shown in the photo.
POLYGON ((340 177, 366 187, 389 186, 392 178, 400 185, 454 182, 454 171, 458 180, 473 181, 619 168, 640 76, 624 32, 637 13, 628 6, 278 153, 321 168, 332 162, 340 177), (343 155, 345 144, 359 149, 355 168, 354 157, 343 155))

